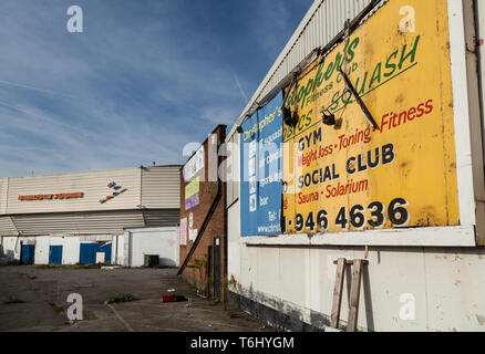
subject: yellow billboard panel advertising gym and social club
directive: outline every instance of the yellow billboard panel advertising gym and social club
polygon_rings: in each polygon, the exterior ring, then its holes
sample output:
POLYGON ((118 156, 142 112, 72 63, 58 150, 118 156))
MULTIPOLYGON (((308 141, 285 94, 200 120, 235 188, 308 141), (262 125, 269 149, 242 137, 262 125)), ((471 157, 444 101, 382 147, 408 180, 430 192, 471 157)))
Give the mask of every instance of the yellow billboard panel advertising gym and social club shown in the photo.
POLYGON ((446 1, 390 0, 297 77, 286 233, 460 223, 448 40, 446 1))

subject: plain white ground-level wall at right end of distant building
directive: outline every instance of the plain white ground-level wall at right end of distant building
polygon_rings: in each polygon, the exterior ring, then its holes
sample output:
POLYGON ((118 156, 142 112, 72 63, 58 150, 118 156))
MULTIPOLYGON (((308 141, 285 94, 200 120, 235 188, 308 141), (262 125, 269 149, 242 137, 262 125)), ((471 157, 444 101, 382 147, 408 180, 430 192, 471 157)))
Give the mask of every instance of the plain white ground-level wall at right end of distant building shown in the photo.
POLYGON ((126 231, 124 238, 125 264, 142 267, 145 254, 158 254, 161 266, 178 267, 178 227, 132 229, 126 231))

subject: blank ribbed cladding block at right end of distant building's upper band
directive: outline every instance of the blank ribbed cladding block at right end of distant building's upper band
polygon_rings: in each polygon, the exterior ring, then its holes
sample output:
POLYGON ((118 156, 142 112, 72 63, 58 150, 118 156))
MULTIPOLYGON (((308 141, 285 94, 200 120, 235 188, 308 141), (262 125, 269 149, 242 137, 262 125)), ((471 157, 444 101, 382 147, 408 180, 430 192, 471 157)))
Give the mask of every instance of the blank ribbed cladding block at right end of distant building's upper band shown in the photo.
POLYGON ((182 166, 144 167, 141 205, 148 209, 178 209, 180 168, 182 166))

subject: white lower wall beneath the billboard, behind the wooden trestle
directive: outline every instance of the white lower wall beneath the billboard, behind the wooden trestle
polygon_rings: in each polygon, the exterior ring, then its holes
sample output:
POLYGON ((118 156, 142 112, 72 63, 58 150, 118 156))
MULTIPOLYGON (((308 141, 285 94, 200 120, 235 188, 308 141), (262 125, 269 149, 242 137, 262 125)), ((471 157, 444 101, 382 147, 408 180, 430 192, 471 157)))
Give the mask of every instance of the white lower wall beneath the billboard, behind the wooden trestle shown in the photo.
MULTIPOLYGON (((363 259, 363 247, 258 247, 239 233, 239 202, 229 210, 229 279, 236 291, 301 321, 330 316, 338 258, 363 259)), ((485 248, 371 247, 362 279, 359 327, 371 331, 485 331, 485 248), (415 319, 400 312, 411 306, 415 319), (403 301, 403 302, 400 302, 403 301)), ((347 322, 350 277, 341 320, 347 322)))

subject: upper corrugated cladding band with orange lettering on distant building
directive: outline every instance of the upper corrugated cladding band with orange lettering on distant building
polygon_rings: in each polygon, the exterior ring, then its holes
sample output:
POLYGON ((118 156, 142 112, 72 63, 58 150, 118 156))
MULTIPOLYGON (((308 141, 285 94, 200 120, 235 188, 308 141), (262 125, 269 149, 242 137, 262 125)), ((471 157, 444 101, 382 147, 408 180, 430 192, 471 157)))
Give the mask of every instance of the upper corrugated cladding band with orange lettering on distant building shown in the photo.
MULTIPOLYGON (((0 179, 0 215, 101 211, 137 209, 178 209, 180 166, 112 169, 0 179), (100 202, 114 191, 114 181, 126 191, 100 202), (82 198, 62 200, 19 200, 19 196, 83 192, 82 198)), ((122 190, 120 189, 120 190, 122 190)))

